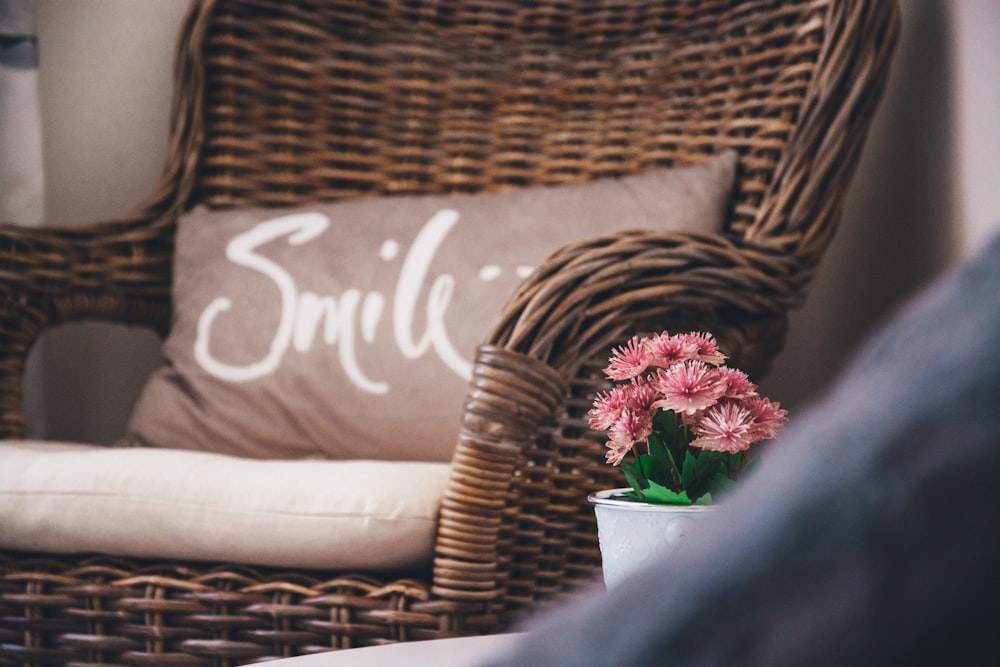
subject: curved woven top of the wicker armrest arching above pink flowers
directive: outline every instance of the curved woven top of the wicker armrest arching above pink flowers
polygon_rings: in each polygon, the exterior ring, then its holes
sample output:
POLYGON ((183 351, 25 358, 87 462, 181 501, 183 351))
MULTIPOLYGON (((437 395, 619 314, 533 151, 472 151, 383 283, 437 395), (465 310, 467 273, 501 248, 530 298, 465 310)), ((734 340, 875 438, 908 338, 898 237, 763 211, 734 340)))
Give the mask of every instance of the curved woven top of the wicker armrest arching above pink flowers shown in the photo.
POLYGON ((744 349, 739 330, 770 321, 778 344, 788 310, 803 298, 805 273, 786 253, 721 234, 594 237, 551 254, 508 301, 489 340, 570 375, 641 323, 697 323, 741 363, 764 370, 773 355, 744 349))

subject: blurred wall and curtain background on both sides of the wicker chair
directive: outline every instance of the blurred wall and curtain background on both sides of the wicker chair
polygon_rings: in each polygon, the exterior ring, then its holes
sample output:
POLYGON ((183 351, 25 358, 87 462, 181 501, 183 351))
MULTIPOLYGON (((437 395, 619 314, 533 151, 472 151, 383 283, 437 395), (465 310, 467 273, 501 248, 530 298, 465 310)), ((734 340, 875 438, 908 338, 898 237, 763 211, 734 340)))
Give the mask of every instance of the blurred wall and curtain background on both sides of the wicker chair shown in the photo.
MULTIPOLYGON (((840 230, 762 383, 793 418, 873 327, 1000 231, 1000 2, 899 5, 888 90, 840 230)), ((106 220, 152 191, 186 6, 0 0, 0 220, 106 220)), ((159 349, 151 332, 116 325, 47 333, 29 363, 29 435, 117 440, 159 349)))

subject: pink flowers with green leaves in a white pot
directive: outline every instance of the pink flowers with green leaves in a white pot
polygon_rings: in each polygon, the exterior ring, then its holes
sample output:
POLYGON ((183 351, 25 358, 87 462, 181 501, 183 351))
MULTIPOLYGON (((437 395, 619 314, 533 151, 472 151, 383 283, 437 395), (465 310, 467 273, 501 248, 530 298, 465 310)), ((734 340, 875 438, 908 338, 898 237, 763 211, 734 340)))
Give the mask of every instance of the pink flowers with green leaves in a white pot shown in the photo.
POLYGON ((590 426, 629 486, 591 494, 608 585, 673 549, 692 515, 746 471, 754 445, 787 421, 746 373, 724 365, 711 334, 633 337, 612 350, 590 426))

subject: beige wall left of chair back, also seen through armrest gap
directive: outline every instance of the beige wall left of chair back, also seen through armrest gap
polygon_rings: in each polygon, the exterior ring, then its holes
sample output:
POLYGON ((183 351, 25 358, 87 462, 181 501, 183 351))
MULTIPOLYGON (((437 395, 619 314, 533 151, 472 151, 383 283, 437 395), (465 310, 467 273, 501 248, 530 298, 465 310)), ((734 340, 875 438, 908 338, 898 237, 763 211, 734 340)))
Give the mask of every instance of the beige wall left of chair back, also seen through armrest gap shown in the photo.
MULTIPOLYGON (((176 34, 186 0, 39 2, 39 89, 53 224, 107 220, 152 192, 166 157, 176 34)), ((72 324, 43 336, 45 434, 113 442, 160 342, 146 330, 72 324)), ((36 397, 43 391, 41 399, 36 397)))

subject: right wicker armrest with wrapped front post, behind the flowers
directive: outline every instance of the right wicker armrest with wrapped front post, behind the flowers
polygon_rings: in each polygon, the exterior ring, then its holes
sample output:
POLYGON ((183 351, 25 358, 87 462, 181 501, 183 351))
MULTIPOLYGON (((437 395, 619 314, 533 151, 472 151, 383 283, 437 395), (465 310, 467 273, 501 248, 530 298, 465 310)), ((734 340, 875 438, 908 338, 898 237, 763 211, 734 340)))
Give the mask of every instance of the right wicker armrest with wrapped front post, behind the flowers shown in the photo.
POLYGON ((435 594, 509 611, 562 585, 524 573, 539 570, 530 545, 569 543, 585 521, 601 443, 587 444, 585 424, 574 425, 573 442, 554 428, 581 401, 572 383, 585 363, 651 323, 694 322, 738 345, 741 368, 759 370, 807 282, 787 255, 713 234, 630 231, 550 255, 479 348, 438 526, 435 594))

